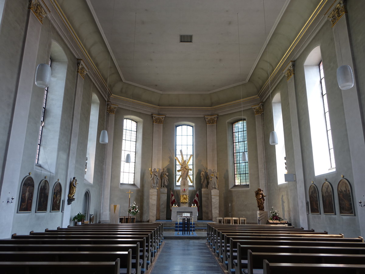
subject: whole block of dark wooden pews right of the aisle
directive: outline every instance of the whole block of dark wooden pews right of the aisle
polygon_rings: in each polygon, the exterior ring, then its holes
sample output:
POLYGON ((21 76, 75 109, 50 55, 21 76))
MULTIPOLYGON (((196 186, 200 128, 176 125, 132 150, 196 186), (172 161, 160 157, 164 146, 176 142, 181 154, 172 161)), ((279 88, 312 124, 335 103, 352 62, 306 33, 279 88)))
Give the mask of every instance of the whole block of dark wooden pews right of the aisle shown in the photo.
POLYGON ((231 273, 365 273, 362 237, 281 225, 209 223, 207 242, 231 273))

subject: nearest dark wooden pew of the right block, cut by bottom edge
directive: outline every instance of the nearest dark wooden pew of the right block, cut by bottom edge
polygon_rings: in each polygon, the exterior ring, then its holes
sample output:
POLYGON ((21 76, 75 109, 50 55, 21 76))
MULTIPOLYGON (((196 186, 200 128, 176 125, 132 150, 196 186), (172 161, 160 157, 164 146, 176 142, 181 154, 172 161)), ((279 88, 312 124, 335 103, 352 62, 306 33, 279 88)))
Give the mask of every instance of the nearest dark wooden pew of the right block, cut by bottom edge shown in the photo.
POLYGON ((295 273, 295 274, 361 274, 365 273, 365 265, 340 264, 305 264, 305 263, 269 263, 264 260, 264 274, 295 273))

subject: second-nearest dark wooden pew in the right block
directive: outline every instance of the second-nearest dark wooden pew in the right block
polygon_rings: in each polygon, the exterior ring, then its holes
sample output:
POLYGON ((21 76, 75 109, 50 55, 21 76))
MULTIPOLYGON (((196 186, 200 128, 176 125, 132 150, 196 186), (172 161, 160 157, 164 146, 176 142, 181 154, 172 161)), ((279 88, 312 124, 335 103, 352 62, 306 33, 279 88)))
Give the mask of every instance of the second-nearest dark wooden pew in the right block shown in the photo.
MULTIPOLYGON (((247 252, 247 269, 243 273, 253 274, 254 269, 264 269, 263 261, 268 260, 270 263, 310 263, 310 264, 363 264, 365 254, 311 254, 311 253, 265 253, 265 252, 247 252)), ((239 269, 245 268, 239 263, 236 273, 239 269)))

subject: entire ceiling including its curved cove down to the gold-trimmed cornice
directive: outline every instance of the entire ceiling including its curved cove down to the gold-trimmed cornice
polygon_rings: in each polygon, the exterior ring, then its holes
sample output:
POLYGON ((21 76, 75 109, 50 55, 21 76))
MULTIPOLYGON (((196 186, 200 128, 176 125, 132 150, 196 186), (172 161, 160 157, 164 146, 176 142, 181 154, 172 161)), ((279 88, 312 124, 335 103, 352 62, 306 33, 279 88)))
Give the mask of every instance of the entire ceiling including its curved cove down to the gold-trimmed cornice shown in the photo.
POLYGON ((155 105, 209 107, 240 99, 240 83, 244 98, 257 97, 268 70, 273 72, 322 2, 327 1, 58 0, 58 5, 113 95, 128 98, 135 92, 136 100, 155 105), (180 43, 179 35, 193 35, 192 43, 180 43), (196 102, 199 94, 208 96, 205 102, 196 102))

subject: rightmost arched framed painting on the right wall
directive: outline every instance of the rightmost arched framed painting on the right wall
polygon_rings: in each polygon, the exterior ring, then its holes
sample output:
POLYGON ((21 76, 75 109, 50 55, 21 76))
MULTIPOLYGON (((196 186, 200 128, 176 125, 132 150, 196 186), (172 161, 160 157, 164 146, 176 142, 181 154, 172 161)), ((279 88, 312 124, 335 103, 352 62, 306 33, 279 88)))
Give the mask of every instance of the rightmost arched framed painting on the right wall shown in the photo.
POLYGON ((342 177, 337 185, 340 215, 355 216, 352 189, 350 182, 342 177))

